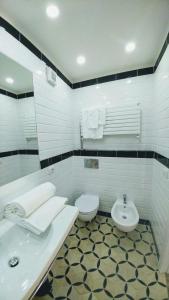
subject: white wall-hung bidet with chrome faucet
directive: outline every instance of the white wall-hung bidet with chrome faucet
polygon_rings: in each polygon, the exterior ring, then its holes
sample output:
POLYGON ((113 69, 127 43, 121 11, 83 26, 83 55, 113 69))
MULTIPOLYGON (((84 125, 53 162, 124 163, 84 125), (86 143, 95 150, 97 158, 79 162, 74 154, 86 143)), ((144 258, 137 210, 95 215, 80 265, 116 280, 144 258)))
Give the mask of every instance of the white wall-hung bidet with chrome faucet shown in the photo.
POLYGON ((139 222, 139 215, 135 204, 128 200, 116 200, 111 210, 112 219, 118 229, 124 232, 134 230, 139 222))

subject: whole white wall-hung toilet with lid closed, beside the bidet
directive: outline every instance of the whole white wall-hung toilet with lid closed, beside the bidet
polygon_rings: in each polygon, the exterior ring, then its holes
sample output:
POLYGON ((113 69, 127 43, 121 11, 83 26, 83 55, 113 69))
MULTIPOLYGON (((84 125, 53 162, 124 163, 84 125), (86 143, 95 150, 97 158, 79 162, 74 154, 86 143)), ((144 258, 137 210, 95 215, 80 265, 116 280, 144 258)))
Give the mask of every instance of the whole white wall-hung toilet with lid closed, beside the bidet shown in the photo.
POLYGON ((79 219, 82 221, 91 221, 97 214, 99 208, 99 196, 82 194, 75 201, 75 206, 79 209, 79 219))

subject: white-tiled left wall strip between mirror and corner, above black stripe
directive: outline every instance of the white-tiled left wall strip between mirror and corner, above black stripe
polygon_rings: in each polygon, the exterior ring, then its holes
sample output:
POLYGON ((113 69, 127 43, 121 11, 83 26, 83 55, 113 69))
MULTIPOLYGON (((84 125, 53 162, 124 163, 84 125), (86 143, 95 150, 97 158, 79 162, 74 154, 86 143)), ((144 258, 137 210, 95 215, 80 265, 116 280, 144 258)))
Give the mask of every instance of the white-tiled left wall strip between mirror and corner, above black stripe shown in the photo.
POLYGON ((57 86, 45 74, 34 75, 34 95, 40 160, 74 149, 71 89, 60 78, 57 86))

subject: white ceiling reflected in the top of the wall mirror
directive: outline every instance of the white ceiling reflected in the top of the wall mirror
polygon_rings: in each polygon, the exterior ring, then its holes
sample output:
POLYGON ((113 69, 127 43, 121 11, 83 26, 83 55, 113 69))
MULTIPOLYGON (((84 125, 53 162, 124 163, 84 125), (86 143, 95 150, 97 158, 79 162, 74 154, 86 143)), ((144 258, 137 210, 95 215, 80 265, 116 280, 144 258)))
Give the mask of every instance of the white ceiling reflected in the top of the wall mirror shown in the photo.
POLYGON ((33 91, 32 73, 1 53, 0 88, 15 94, 33 91), (7 83, 5 81, 7 77, 12 78, 14 80, 14 83, 7 83))

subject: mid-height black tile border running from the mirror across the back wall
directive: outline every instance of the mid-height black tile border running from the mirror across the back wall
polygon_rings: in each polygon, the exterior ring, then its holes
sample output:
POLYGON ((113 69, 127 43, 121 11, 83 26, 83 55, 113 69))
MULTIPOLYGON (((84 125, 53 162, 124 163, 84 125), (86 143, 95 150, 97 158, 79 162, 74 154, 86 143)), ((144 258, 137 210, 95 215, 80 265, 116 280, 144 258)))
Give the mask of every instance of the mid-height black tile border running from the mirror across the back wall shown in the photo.
POLYGON ((169 169, 169 158, 154 151, 128 151, 128 150, 73 150, 62 153, 40 161, 41 169, 58 163, 71 156, 90 156, 90 157, 120 157, 120 158, 154 158, 169 169))

